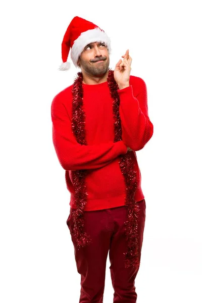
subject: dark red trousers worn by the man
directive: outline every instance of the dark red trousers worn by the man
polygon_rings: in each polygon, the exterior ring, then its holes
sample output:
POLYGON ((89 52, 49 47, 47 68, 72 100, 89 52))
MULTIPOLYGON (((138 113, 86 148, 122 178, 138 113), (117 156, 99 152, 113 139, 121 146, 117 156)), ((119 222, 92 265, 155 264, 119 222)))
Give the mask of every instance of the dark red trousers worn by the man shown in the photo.
MULTIPOLYGON (((139 251, 141 248, 145 225, 145 199, 138 201, 140 215, 138 222, 139 251)), ((102 303, 105 289, 106 261, 109 252, 110 272, 114 289, 114 303, 135 303, 135 278, 137 267, 125 268, 124 252, 127 251, 125 238, 125 221, 127 220, 126 206, 84 212, 85 232, 90 235, 92 242, 86 247, 77 249, 72 234, 72 213, 67 219, 75 251, 77 271, 81 275, 81 294, 79 303, 102 303)))

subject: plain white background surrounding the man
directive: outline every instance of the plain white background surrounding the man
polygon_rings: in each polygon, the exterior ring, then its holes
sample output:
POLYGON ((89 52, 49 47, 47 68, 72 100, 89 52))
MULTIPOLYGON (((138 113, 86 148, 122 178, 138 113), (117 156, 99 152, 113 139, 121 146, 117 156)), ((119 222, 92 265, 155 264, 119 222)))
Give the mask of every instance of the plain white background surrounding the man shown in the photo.
MULTIPOLYGON (((70 193, 50 106, 79 70, 58 71, 75 16, 129 49, 147 85, 154 134, 137 151, 146 200, 137 301, 208 302, 207 1, 8 1, 1 5, 1 291, 3 303, 78 302, 66 224, 70 193), (73 4, 74 3, 74 4, 73 4)), ((69 61, 70 56, 69 56, 69 61)), ((107 259, 104 303, 113 302, 107 259)))

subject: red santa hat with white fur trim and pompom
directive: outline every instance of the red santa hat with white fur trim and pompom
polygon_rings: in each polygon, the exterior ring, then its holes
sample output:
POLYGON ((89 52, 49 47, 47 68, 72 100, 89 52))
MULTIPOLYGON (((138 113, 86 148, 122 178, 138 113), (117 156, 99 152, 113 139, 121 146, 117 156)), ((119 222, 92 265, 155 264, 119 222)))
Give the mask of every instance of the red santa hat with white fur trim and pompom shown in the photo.
POLYGON ((59 67, 60 71, 66 71, 70 68, 70 62, 67 62, 68 55, 71 48, 71 59, 75 67, 78 58, 83 52, 84 47, 92 42, 102 42, 108 47, 109 54, 111 54, 111 40, 108 35, 100 29, 97 25, 89 22, 78 16, 74 17, 69 24, 63 41, 62 41, 62 60, 63 63, 59 67))

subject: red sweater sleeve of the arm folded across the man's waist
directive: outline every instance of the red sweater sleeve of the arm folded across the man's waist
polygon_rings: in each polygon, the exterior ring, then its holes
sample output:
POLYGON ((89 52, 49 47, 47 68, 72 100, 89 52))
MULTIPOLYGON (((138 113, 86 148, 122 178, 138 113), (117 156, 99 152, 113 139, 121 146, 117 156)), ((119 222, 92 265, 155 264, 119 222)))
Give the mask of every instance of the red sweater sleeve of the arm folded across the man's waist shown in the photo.
POLYGON ((100 168, 111 163, 119 155, 127 153, 127 146, 122 140, 95 145, 78 143, 66 107, 58 95, 51 103, 51 121, 53 144, 58 160, 65 170, 100 168))

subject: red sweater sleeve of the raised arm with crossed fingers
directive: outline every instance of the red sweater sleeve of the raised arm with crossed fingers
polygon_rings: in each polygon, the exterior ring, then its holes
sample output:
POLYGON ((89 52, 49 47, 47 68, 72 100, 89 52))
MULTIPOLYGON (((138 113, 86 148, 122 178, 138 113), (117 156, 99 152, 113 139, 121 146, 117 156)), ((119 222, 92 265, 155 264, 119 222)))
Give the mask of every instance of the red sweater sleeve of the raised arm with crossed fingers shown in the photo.
POLYGON ((118 89, 122 139, 133 150, 140 150, 153 134, 153 124, 148 117, 147 90, 143 79, 137 78, 138 93, 133 95, 132 85, 118 89))

